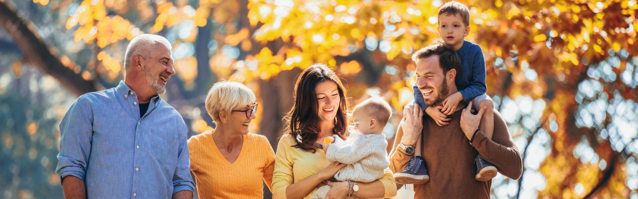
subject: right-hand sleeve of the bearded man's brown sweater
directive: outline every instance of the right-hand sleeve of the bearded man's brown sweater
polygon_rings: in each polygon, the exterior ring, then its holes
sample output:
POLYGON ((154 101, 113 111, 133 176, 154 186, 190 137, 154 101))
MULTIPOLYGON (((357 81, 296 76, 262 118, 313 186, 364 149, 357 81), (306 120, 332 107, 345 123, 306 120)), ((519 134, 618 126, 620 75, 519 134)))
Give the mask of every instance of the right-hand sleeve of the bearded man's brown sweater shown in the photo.
MULTIPOLYGON (((503 121, 501 114, 494 110, 494 135, 489 140, 482 132, 474 136, 472 146, 480 156, 498 169, 498 172, 510 179, 519 179, 523 173, 523 160, 503 121)), ((390 166, 392 167, 392 166, 390 166)))

